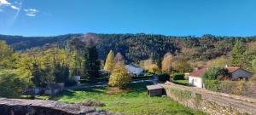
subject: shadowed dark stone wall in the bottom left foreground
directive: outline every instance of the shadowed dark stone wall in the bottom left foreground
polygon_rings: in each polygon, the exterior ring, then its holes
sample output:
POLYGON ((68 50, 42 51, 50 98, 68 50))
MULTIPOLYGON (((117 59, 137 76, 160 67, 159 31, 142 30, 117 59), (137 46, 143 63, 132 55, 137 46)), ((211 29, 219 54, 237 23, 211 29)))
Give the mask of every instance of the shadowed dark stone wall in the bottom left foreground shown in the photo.
POLYGON ((1 115, 113 115, 90 106, 57 101, 0 98, 1 115))

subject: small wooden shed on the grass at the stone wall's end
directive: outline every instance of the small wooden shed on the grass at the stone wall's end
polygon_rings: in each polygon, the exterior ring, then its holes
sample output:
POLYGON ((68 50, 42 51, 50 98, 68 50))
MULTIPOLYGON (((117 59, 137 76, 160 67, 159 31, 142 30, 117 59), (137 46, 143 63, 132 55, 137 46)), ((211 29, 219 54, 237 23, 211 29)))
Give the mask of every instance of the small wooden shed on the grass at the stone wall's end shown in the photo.
POLYGON ((165 89, 160 84, 148 85, 147 89, 149 96, 161 96, 165 92, 165 89))

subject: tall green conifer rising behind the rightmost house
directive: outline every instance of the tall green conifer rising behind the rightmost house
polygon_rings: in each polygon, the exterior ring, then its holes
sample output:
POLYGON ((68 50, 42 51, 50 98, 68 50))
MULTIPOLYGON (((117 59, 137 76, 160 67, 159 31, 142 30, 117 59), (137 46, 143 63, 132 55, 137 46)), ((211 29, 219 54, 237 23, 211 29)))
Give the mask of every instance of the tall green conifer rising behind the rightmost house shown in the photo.
POLYGON ((242 65, 242 58, 243 54, 246 51, 245 46, 241 43, 240 40, 236 41, 236 44, 231 52, 231 66, 241 66, 242 65))

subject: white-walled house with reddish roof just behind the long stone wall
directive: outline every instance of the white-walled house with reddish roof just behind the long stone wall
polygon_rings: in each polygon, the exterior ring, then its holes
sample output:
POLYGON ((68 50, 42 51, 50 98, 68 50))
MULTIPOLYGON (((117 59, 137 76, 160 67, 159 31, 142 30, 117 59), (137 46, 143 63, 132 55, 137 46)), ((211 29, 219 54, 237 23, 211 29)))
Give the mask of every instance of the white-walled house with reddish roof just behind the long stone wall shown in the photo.
POLYGON ((189 85, 198 88, 204 87, 204 80, 201 75, 207 70, 205 66, 198 67, 194 72, 189 73, 189 85))

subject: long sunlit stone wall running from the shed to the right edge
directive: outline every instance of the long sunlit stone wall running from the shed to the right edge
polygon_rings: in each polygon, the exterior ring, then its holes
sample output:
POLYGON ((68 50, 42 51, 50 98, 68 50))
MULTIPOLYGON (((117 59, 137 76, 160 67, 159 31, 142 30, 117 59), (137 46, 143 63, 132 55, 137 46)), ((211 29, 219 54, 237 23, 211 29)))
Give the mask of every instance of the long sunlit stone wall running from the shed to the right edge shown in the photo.
POLYGON ((212 115, 256 114, 256 100, 252 98, 227 95, 174 83, 161 85, 166 89, 166 95, 174 101, 212 115))

